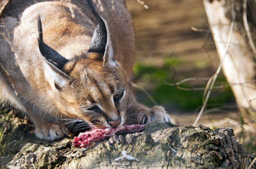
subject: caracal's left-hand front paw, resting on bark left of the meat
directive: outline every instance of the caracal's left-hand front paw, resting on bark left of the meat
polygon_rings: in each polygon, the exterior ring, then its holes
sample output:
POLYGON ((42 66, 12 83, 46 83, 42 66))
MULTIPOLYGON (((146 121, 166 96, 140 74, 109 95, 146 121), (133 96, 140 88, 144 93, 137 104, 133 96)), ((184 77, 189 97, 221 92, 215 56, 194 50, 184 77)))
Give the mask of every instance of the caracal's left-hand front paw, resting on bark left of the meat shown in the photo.
POLYGON ((61 123, 41 123, 36 125, 36 137, 44 140, 56 140, 68 135, 68 129, 61 123))

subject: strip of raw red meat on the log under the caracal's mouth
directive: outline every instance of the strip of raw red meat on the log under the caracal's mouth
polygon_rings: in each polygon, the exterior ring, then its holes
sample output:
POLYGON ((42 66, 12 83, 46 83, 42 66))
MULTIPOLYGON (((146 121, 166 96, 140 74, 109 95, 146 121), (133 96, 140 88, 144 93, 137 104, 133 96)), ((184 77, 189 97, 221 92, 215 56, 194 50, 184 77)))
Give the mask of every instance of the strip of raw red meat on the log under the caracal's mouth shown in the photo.
POLYGON ((135 133, 143 130, 145 124, 133 124, 133 125, 122 125, 119 128, 109 128, 105 127, 98 129, 96 127, 92 128, 90 131, 80 133, 78 137, 74 137, 73 145, 75 147, 88 147, 92 143, 104 140, 105 138, 114 136, 115 134, 124 133, 135 133))

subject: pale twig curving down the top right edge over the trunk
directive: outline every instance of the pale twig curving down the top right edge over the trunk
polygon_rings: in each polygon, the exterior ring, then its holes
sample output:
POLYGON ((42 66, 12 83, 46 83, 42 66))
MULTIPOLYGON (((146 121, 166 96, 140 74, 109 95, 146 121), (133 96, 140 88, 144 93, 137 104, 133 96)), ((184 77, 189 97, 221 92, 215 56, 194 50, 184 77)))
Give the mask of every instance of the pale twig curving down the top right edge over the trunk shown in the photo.
POLYGON ((248 22, 247 22, 247 15, 246 15, 246 9, 247 9, 247 0, 244 0, 244 4, 243 4, 243 21, 244 21, 244 29, 247 35, 247 38, 249 40, 249 44, 252 48, 252 52, 254 54, 254 57, 256 58, 256 48, 255 45, 252 41, 252 35, 248 26, 248 22))

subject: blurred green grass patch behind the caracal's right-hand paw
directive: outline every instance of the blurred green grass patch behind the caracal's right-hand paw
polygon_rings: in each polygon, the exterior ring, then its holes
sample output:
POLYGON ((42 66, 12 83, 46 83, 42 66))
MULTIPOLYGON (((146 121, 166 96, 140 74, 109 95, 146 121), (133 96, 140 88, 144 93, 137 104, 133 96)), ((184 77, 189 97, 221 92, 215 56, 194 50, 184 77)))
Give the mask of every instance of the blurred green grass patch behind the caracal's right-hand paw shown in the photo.
MULTIPOLYGON (((181 64, 182 61, 175 58, 166 59, 164 66, 162 67, 136 63, 133 68, 135 82, 145 84, 145 86, 142 87, 149 91, 158 104, 175 104, 181 109, 194 110, 202 105, 204 91, 185 91, 164 84, 164 82, 173 83, 172 67, 178 67, 181 64)), ((196 75, 191 77, 196 77, 196 75)), ((220 76, 217 81, 225 82, 226 80, 223 76, 220 76)), ((207 81, 200 87, 205 87, 206 83, 207 81)), ((193 88, 188 84, 182 84, 180 87, 193 88)), ((227 103, 230 101, 234 102, 234 96, 231 89, 220 88, 212 91, 208 103, 227 103)), ((148 106, 153 105, 149 98, 143 98, 143 103, 148 106)))

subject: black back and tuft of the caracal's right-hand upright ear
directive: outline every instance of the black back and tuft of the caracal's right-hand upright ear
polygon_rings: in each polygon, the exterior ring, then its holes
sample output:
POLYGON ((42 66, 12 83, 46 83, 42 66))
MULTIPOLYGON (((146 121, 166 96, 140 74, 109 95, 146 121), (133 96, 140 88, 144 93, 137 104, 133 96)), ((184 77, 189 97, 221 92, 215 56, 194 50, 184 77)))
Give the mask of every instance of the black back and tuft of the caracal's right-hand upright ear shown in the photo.
POLYGON ((87 0, 87 4, 92 11, 93 16, 97 19, 97 25, 93 32, 90 49, 88 52, 105 53, 107 45, 108 32, 103 19, 100 17, 98 12, 95 10, 92 1, 87 0))

